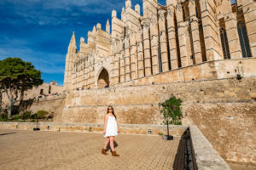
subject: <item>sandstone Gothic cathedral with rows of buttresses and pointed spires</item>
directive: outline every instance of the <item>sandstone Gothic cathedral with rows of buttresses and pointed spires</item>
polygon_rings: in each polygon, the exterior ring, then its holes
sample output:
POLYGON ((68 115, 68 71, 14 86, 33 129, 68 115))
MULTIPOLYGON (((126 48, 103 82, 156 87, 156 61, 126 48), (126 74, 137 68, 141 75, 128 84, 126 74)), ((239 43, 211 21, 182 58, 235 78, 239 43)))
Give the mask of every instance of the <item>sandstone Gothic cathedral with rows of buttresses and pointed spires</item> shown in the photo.
POLYGON ((80 38, 66 56, 64 88, 255 77, 256 4, 253 0, 125 0, 121 19, 80 38))

